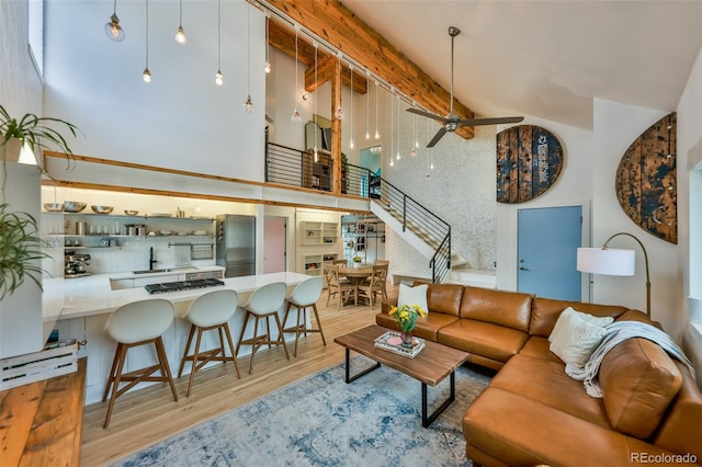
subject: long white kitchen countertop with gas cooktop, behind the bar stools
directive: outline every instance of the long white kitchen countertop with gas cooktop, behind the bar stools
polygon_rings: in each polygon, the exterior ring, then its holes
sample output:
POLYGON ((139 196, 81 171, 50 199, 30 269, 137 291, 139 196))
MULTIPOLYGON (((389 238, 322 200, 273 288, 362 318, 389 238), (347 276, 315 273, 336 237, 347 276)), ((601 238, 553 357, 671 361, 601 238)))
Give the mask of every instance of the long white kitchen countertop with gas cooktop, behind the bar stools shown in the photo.
MULTIPOLYGON (((202 269, 199 269, 202 271, 202 269)), ((180 271, 178 271, 180 273, 180 271)), ((166 273, 166 274, 173 274, 166 273)), ((145 274, 137 274, 143 277, 145 274)), ((147 275, 148 276, 148 275, 147 275)), ((49 278, 43 281, 44 293, 42 295, 42 309, 44 321, 57 319, 78 318, 83 316, 111 314, 122 305, 148 298, 166 298, 173 304, 191 301, 200 295, 220 287, 196 288, 192 291, 169 292, 150 295, 144 287, 112 291, 110 278, 133 278, 128 273, 95 274, 75 278, 49 278)), ((273 283, 284 282, 288 286, 296 285, 306 278, 306 274, 282 272, 272 274, 258 274, 242 277, 227 277, 224 288, 230 288, 238 294, 250 293, 254 289, 273 283)))

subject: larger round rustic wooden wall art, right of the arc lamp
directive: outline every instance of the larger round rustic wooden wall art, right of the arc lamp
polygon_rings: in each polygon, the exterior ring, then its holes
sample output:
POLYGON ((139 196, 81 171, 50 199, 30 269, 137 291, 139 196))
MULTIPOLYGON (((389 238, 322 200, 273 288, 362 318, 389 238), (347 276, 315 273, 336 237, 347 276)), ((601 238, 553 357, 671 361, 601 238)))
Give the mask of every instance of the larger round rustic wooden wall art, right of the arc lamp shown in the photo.
POLYGON ((676 113, 653 124, 626 149, 615 190, 624 213, 642 229, 678 243, 676 113))

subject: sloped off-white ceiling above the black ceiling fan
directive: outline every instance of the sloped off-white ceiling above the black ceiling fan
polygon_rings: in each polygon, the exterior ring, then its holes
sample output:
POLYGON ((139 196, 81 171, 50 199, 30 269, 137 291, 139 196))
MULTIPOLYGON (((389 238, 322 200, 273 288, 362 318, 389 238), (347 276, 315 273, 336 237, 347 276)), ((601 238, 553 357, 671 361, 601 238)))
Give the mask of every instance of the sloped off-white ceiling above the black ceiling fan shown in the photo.
POLYGON ((591 129, 593 99, 673 111, 702 47, 702 1, 343 0, 478 116, 591 129))

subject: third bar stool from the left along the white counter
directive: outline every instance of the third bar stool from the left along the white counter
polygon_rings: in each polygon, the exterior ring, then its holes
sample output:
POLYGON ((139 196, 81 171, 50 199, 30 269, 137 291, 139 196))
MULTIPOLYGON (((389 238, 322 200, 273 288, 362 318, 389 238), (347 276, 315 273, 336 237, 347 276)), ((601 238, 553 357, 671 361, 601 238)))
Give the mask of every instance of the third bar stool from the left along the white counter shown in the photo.
POLYGON ((239 355, 239 349, 241 344, 251 345, 251 361, 249 362, 249 375, 251 374, 251 369, 253 369, 253 356, 256 352, 261 348, 261 345, 268 345, 271 349, 272 345, 283 345, 283 350, 285 351, 285 357, 290 360, 290 354, 287 353, 287 346, 285 345, 285 334, 283 333, 283 326, 281 324, 281 320, 278 317, 278 310, 283 303, 285 301, 285 289, 287 286, 284 282, 273 282, 271 284, 263 285, 251 294, 249 300, 242 305, 241 307, 246 309, 246 317, 244 318, 244 324, 241 326, 241 334, 239 334, 239 341, 237 342, 237 356, 239 355), (244 333, 246 332, 246 327, 249 322, 249 318, 253 317, 253 338, 244 339, 244 333), (275 324, 278 326, 278 339, 273 340, 271 338, 271 321, 270 319, 275 319, 275 324), (267 332, 264 334, 258 335, 259 332, 259 320, 265 319, 265 329, 267 332))

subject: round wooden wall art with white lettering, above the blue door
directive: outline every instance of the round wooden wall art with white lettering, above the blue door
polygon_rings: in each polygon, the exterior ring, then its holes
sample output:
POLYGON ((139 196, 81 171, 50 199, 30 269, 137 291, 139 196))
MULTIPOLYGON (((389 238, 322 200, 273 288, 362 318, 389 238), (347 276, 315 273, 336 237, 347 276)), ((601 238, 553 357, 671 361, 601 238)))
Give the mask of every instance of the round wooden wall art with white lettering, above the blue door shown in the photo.
POLYGON ((523 203, 553 185, 563 168, 563 147, 556 136, 534 125, 519 125, 497 134, 497 202, 523 203))

